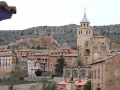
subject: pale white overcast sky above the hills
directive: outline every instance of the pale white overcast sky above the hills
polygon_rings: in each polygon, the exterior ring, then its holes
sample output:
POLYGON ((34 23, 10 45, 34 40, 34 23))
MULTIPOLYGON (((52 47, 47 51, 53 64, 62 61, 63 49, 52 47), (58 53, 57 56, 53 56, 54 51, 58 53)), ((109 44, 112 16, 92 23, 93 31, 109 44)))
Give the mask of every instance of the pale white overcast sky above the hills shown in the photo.
POLYGON ((120 0, 4 0, 17 14, 0 22, 0 30, 80 24, 86 7, 91 26, 120 24, 120 0))

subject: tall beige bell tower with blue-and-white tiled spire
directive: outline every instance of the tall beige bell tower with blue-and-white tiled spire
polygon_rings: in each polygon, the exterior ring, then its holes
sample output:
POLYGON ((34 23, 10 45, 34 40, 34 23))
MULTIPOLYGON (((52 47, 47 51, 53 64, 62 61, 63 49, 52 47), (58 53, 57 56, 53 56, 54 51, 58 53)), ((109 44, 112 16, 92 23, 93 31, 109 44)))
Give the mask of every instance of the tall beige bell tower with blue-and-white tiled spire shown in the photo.
POLYGON ((86 16, 86 8, 84 8, 84 16, 77 28, 77 49, 78 59, 83 66, 89 64, 90 59, 90 38, 93 36, 93 28, 86 16))

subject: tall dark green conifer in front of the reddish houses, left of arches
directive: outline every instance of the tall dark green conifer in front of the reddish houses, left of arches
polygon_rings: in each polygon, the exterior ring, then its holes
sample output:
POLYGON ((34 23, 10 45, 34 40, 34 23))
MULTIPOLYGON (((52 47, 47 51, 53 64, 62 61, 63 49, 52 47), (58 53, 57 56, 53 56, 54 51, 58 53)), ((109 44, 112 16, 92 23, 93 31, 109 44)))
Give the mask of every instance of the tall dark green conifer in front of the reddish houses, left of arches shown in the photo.
POLYGON ((60 75, 62 76, 63 74, 63 68, 64 66, 66 66, 67 64, 65 63, 65 58, 64 56, 60 56, 58 59, 57 59, 57 64, 55 65, 55 73, 56 75, 60 75))

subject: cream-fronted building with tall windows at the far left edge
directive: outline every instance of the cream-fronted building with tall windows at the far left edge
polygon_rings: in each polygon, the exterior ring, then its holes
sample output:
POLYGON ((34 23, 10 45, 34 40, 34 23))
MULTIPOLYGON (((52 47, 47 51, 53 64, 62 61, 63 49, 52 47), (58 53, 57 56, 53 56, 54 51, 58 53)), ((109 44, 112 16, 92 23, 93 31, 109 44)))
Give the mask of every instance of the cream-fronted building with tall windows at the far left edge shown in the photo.
POLYGON ((15 70, 16 56, 11 50, 0 50, 0 78, 9 78, 15 70))

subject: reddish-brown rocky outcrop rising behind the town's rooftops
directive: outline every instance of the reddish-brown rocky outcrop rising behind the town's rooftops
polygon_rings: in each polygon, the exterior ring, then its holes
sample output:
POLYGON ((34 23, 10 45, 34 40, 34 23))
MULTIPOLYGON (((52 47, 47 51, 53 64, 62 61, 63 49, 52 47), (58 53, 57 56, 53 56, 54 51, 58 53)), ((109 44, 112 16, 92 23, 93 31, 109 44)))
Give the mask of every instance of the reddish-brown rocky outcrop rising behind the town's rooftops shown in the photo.
POLYGON ((45 36, 45 37, 39 37, 39 38, 26 38, 26 39, 20 39, 16 40, 15 42, 11 42, 5 47, 7 49, 21 49, 21 48, 27 48, 27 49, 57 49, 59 47, 59 44, 56 40, 53 39, 52 36, 45 36), (38 47, 39 46, 39 47, 38 47))

